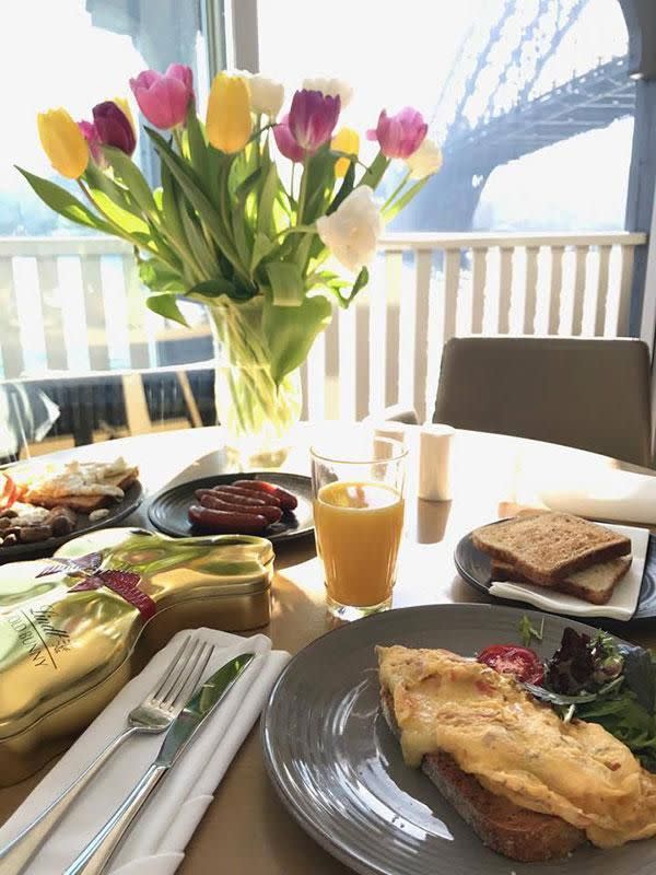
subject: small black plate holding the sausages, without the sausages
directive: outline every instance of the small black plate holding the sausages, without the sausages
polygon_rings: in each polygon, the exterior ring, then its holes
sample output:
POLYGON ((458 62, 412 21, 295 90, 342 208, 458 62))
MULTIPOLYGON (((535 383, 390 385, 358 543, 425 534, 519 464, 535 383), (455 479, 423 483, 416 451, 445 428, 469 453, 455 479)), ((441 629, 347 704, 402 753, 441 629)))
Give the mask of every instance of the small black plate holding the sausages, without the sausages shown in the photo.
MULTIPOLYGON (((197 489, 211 489, 223 483, 227 486, 235 480, 267 480, 270 483, 293 492, 298 499, 295 511, 283 514, 279 523, 271 524, 262 537, 269 538, 273 544, 300 538, 314 532, 314 517, 312 512, 312 480, 301 474, 284 474, 282 471, 248 471, 247 474, 215 474, 212 477, 201 477, 179 483, 152 500, 148 509, 151 523, 174 538, 186 538, 190 535, 202 534, 191 525, 187 516, 190 504, 198 504, 195 498, 197 489)), ((239 534, 239 533, 235 533, 239 534)))

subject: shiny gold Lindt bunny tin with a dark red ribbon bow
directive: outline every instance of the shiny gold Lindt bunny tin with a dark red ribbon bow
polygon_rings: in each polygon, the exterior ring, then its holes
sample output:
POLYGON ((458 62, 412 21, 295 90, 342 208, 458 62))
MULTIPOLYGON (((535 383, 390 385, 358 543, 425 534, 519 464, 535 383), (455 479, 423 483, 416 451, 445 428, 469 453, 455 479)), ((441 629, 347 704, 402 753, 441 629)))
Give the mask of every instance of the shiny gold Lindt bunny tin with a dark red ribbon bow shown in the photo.
POLYGON ((180 629, 270 616, 265 538, 108 528, 0 568, 0 785, 61 751, 180 629))

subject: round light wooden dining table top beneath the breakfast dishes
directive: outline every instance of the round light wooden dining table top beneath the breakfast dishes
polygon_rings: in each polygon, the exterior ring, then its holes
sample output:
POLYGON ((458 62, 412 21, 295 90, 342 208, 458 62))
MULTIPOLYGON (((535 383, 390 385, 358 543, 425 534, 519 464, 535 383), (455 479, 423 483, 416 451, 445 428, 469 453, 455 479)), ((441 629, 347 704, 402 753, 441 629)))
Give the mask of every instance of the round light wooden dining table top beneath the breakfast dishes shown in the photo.
MULTIPOLYGON (((326 445, 330 431, 343 438, 353 423, 301 423, 292 448, 281 466, 289 472, 309 475, 309 447, 317 433, 326 445)), ((417 428, 419 431, 419 428, 417 428)), ((593 485, 601 513, 612 505, 612 490, 622 497, 630 514, 626 493, 640 493, 645 485, 656 495, 656 471, 640 468, 583 450, 520 438, 471 431, 456 431, 450 456, 450 500, 418 498, 419 455, 409 429, 406 492, 406 524, 399 555, 393 608, 419 605, 492 602, 492 597, 466 583, 454 564, 458 541, 471 529, 519 508, 541 506, 546 494, 584 489, 593 485), (604 488, 607 492, 604 493, 604 488), (621 485, 623 485, 622 488, 621 485), (623 491, 622 491, 623 489, 623 491), (601 490, 601 492, 599 492, 601 490), (610 490, 610 492, 609 492, 610 490), (602 494, 604 493, 604 494, 602 494), (609 504, 610 501, 610 504, 609 504)), ((121 526, 153 528, 148 516, 150 500, 167 486, 233 470, 220 427, 185 429, 122 438, 51 454, 52 458, 110 460, 124 456, 138 465, 144 500, 121 526)), ((644 500, 641 508, 644 509, 644 500)), ((634 505, 635 506, 635 505, 634 505)), ((609 515, 610 516, 610 515, 609 515)), ((616 522, 635 523, 635 520, 616 522)), ((653 520, 641 525, 656 532, 653 520)), ((276 574, 271 592, 270 623, 261 631, 273 646, 297 654, 338 622, 327 612, 320 562, 314 535, 276 545, 276 574)), ((247 632, 245 634, 248 634, 247 632)), ((656 644, 656 618, 624 623, 623 638, 643 645, 656 644)), ((335 672, 340 670, 339 663, 335 672)), ((39 782, 51 762, 36 774, 10 788, 0 789, 0 824, 39 782)), ((509 871, 511 866, 508 866, 509 871)), ((180 875, 211 872, 248 875, 345 875, 342 863, 311 839, 278 798, 266 773, 259 730, 256 726, 234 758, 216 789, 215 796, 187 845, 180 875)))

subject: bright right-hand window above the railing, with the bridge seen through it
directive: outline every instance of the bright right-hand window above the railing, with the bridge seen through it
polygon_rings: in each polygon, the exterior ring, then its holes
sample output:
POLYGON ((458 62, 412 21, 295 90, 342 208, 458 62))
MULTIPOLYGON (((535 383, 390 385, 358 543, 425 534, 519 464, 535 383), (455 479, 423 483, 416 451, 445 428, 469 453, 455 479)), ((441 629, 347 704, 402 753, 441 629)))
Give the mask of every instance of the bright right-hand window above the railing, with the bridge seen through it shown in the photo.
POLYGON ((623 229, 634 84, 617 0, 332 0, 317 18, 260 0, 261 69, 290 88, 348 79, 370 127, 413 104, 444 147, 390 230, 623 229))

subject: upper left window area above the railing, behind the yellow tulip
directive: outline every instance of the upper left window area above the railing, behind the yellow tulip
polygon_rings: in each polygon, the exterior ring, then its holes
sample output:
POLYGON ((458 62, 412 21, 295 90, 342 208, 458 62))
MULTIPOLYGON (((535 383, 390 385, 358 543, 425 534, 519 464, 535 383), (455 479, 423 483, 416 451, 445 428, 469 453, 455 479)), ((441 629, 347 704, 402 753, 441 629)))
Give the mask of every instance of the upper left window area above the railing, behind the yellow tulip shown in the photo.
MULTIPOLYGON (((3 9, 2 81, 20 85, 3 92, 11 138, 0 145, 0 236, 79 236, 73 226, 34 197, 14 164, 62 183, 50 168, 36 132, 40 109, 65 105, 73 118, 91 118, 94 104, 128 97, 128 80, 141 70, 179 61, 194 68, 201 100, 207 94, 207 60, 198 2, 177 0, 24 0, 3 9), (38 21, 38 26, 34 26, 38 21), (28 39, 25 35, 28 34, 28 39), (28 46, 26 45, 28 43, 28 46)), ((133 105, 133 104, 132 104, 133 105)), ((153 180, 154 160, 141 137, 137 159, 153 180)), ((70 186, 77 192, 74 184, 70 186)))

